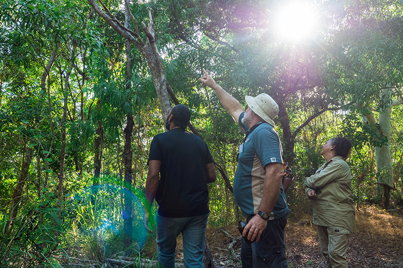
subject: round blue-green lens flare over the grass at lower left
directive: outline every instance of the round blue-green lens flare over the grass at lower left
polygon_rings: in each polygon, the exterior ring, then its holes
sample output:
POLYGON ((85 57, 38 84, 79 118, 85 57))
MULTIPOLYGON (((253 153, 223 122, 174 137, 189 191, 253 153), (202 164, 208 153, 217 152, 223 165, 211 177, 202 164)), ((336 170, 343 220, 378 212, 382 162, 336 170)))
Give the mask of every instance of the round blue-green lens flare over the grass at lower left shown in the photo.
POLYGON ((96 234, 109 251, 121 251, 124 220, 131 216, 133 248, 143 248, 147 231, 143 225, 144 194, 141 191, 130 191, 116 185, 96 185, 78 192, 73 200, 75 211, 71 209, 69 217, 79 223, 83 234, 96 234), (131 212, 123 211, 124 202, 132 204, 131 212))

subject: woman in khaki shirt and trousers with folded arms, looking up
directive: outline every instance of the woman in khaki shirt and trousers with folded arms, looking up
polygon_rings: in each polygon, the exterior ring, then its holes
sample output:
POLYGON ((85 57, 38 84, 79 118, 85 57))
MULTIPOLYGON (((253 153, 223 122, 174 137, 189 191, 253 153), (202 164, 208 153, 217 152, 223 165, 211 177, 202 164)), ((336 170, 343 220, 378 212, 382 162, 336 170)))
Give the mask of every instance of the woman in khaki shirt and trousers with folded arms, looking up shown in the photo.
POLYGON ((350 149, 347 138, 328 140, 320 152, 326 163, 305 181, 307 196, 313 200, 313 223, 329 268, 348 267, 345 253, 355 221, 351 170, 344 161, 350 149))

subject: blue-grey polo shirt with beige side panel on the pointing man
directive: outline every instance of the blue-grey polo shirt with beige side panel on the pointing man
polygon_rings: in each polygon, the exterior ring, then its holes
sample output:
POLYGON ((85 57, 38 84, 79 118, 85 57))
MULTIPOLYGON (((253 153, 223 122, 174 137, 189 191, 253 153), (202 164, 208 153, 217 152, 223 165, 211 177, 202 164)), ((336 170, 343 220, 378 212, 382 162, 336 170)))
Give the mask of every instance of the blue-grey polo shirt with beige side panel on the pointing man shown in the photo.
MULTIPOLYGON (((239 125, 246 130, 247 128, 241 123, 244 115, 243 112, 239 116, 239 125)), ((234 197, 245 217, 258 213, 266 176, 264 167, 269 163, 283 163, 282 153, 279 135, 268 123, 259 125, 245 140, 243 149, 239 152, 234 179, 234 197)), ((281 218, 289 212, 283 186, 281 186, 279 198, 269 220, 281 218)))

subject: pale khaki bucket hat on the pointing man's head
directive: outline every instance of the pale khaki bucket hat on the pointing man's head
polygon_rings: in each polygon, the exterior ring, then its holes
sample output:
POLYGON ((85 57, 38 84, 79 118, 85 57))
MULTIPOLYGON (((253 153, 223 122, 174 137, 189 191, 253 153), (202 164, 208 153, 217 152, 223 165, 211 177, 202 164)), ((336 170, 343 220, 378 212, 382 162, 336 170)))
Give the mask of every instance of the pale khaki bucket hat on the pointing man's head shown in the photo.
POLYGON ((279 105, 266 93, 257 95, 255 98, 245 96, 249 108, 274 127, 274 117, 279 113, 279 105))

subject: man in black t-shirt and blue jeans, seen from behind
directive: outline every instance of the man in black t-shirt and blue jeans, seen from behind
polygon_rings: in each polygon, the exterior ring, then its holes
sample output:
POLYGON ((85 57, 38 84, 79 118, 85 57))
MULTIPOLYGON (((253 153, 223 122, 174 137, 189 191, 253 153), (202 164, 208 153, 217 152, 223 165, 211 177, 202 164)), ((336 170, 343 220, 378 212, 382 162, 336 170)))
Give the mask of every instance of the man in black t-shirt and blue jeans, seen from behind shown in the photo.
POLYGON ((209 215, 207 183, 214 182, 216 175, 206 142, 185 131, 189 120, 188 107, 174 106, 165 122, 168 131, 153 138, 147 162, 144 224, 148 228, 150 206, 155 199, 159 205, 157 255, 165 268, 175 265, 176 238, 180 233, 185 267, 203 267, 209 215))

